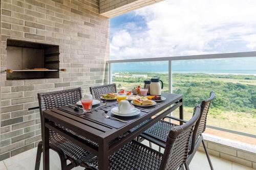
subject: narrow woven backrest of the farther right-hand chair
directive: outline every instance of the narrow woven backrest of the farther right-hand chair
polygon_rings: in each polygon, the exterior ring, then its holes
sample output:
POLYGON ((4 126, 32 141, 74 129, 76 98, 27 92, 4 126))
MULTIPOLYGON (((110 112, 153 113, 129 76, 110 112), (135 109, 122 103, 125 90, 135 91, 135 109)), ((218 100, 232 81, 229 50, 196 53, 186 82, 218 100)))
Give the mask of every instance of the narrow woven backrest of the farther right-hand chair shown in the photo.
POLYGON ((208 99, 203 100, 201 102, 201 113, 199 116, 199 119, 197 120, 197 123, 195 125, 194 131, 193 131, 193 136, 192 136, 192 141, 191 141, 191 148, 189 151, 189 155, 194 152, 195 145, 197 142, 198 137, 204 133, 206 129, 206 120, 207 120, 207 114, 210 108, 210 103, 215 99, 215 92, 211 91, 210 96, 208 99))

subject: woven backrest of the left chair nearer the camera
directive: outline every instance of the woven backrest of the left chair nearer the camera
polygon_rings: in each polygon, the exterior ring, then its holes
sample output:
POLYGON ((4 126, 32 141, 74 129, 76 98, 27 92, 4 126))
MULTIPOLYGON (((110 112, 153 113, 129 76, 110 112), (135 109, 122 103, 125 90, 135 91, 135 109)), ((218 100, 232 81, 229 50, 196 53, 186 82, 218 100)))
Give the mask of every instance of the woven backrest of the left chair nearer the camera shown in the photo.
POLYGON ((40 109, 40 118, 42 120, 42 111, 56 107, 74 104, 81 100, 82 89, 74 88, 69 90, 53 91, 47 93, 38 93, 38 103, 40 109))

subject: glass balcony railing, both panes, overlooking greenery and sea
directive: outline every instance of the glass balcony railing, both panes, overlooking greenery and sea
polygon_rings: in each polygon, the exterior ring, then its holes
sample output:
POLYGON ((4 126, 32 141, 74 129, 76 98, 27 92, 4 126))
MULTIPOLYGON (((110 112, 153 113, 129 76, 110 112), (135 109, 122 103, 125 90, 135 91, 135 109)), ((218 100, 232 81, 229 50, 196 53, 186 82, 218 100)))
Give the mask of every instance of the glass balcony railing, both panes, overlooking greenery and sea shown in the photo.
MULTIPOLYGON (((216 99, 211 104, 207 125, 218 133, 206 132, 227 138, 230 138, 227 132, 244 135, 251 137, 248 143, 256 143, 256 57, 253 56, 256 52, 108 63, 112 82, 119 89, 131 90, 143 86, 146 79, 160 77, 164 82, 163 92, 183 95, 185 119, 192 116, 196 104, 214 91, 216 99)), ((172 114, 178 117, 178 111, 172 114)))

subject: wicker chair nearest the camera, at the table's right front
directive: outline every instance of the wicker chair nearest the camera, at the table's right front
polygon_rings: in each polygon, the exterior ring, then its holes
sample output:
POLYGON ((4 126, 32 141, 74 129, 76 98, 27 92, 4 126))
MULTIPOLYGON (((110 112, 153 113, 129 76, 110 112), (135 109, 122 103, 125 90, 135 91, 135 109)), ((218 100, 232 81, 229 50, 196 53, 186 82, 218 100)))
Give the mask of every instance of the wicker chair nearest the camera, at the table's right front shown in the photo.
MULTIPOLYGON (((170 129, 163 154, 133 140, 109 157, 109 169, 177 170, 183 167, 188 155, 189 139, 200 112, 201 107, 197 105, 193 117, 187 123, 170 129)), ((86 169, 97 169, 97 165, 98 160, 95 159, 86 169)), ((187 166, 185 168, 188 170, 187 166)))

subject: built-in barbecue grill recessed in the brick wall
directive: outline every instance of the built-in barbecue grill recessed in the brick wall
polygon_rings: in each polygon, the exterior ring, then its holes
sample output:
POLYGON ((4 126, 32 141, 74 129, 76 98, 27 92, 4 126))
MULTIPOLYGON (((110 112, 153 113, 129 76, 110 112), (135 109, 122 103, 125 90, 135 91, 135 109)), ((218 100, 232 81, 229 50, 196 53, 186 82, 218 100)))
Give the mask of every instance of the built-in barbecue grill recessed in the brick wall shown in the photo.
POLYGON ((59 46, 7 40, 7 80, 59 78, 59 46))

